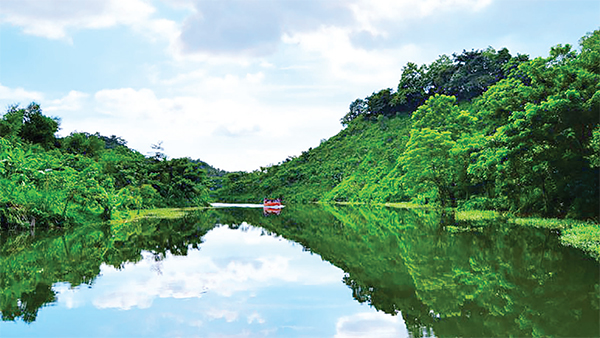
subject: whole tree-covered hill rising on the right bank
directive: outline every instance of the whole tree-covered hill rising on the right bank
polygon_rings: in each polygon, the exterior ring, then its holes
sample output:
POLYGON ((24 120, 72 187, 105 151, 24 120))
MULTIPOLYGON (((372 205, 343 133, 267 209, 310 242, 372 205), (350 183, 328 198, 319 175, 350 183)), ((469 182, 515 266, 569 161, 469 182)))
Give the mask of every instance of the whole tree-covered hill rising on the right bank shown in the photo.
POLYGON ((217 196, 597 218, 600 31, 545 58, 488 48, 408 63, 397 90, 352 102, 341 122, 297 158, 227 174, 217 196))

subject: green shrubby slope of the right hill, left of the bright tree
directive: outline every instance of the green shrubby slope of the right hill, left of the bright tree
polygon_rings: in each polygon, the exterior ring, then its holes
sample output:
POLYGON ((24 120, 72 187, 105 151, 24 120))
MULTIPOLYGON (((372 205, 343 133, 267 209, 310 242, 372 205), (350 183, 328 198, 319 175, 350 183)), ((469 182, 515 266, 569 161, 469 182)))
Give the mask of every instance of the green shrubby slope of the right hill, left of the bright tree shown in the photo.
POLYGON ((381 116, 377 123, 361 117, 298 157, 250 173, 225 175, 217 196, 227 202, 257 202, 267 196, 283 197, 288 202, 313 202, 358 172, 364 175, 356 184, 365 185, 375 175, 384 175, 393 168, 408 140, 409 126, 406 116, 381 116))

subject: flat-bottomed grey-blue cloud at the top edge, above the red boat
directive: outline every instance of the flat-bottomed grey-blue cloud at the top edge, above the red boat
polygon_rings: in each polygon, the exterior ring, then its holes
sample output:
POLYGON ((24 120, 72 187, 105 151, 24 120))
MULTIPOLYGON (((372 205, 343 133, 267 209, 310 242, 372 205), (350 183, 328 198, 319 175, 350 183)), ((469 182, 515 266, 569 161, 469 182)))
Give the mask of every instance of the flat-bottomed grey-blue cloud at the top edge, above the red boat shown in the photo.
POLYGON ((270 55, 277 51, 283 33, 352 21, 340 0, 195 1, 194 6, 180 37, 187 54, 270 55))

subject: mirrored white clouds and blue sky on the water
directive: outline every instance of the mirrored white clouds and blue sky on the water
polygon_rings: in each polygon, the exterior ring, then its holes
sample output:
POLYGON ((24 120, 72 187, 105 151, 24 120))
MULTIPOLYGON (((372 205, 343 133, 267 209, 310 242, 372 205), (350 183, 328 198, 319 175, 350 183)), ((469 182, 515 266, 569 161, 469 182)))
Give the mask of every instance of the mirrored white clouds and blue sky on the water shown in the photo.
POLYGON ((242 224, 211 230, 200 250, 189 250, 187 256, 167 254, 156 261, 144 252, 141 261, 121 270, 103 265, 92 289, 69 289, 64 283, 54 289, 59 307, 143 316, 165 335, 194 336, 199 328, 252 337, 401 331, 401 318, 355 302, 343 276, 341 269, 301 245, 242 224))

